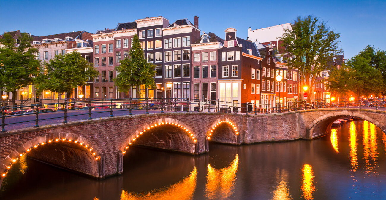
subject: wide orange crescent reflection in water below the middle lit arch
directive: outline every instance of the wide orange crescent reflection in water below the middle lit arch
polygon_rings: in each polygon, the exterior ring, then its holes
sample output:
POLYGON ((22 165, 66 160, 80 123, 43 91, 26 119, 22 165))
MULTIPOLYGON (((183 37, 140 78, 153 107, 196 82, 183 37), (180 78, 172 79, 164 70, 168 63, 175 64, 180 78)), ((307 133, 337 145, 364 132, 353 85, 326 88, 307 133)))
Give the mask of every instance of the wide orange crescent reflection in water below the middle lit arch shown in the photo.
POLYGON ((165 189, 153 190, 146 194, 134 194, 134 193, 129 193, 129 192, 126 192, 125 190, 122 190, 121 200, 192 199, 194 192, 196 190, 196 184, 197 184, 196 178, 197 178, 197 170, 195 167, 188 177, 165 189))

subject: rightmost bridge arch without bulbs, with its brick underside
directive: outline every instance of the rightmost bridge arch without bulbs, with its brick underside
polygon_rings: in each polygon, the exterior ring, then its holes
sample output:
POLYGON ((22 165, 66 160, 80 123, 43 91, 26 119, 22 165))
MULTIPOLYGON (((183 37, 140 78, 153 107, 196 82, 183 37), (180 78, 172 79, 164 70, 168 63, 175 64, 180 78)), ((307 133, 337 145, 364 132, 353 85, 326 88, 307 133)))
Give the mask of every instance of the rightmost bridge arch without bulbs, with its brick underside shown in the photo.
POLYGON ((370 123, 378 126, 379 128, 382 129, 384 133, 386 133, 386 124, 381 124, 379 121, 377 121, 374 118, 371 118, 369 116, 366 116, 361 113, 356 113, 356 112, 347 112, 347 111, 336 111, 333 113, 328 113, 324 114, 314 121, 310 123, 310 125, 307 127, 309 130, 309 135, 307 136, 308 139, 316 138, 318 136, 322 136, 323 134, 327 134, 327 130, 331 128, 332 123, 342 117, 355 117, 355 118, 360 118, 366 121, 369 121, 370 123))

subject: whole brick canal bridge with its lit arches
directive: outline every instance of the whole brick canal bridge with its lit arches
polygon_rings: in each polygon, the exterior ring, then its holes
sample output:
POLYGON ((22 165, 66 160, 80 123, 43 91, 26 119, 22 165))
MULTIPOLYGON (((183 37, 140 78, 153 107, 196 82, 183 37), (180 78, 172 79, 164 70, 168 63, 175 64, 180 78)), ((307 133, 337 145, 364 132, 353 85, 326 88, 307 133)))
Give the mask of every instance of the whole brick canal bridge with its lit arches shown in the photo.
POLYGON ((131 145, 198 155, 208 141, 234 145, 313 139, 328 134, 344 116, 365 119, 386 133, 386 111, 325 108, 280 114, 154 113, 116 116, 24 128, 0 134, 1 182, 20 156, 96 178, 122 173, 131 145))

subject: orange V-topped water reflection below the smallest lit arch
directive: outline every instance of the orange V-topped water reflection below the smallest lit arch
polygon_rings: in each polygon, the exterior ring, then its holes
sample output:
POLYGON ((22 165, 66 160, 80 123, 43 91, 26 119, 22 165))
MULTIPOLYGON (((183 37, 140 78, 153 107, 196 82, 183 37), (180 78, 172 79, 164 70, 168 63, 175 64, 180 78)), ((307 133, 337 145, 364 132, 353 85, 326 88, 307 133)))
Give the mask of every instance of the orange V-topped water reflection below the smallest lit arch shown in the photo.
POLYGON ((238 165, 239 155, 236 155, 229 166, 220 170, 208 164, 207 184, 205 185, 205 196, 208 199, 228 199, 233 194, 238 165))

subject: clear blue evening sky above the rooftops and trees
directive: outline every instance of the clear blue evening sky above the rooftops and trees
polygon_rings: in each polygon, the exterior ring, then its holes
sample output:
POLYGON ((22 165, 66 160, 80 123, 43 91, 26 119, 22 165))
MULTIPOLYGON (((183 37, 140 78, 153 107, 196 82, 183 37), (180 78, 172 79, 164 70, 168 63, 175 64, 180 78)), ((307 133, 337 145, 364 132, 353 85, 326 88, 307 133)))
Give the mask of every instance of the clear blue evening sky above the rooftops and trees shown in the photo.
POLYGON ((43 36, 77 30, 94 33, 117 23, 145 17, 176 19, 199 17, 199 28, 224 38, 224 30, 237 29, 246 39, 248 27, 260 29, 314 15, 340 33, 345 58, 367 44, 386 50, 386 1, 0 1, 0 32, 20 30, 43 36))

